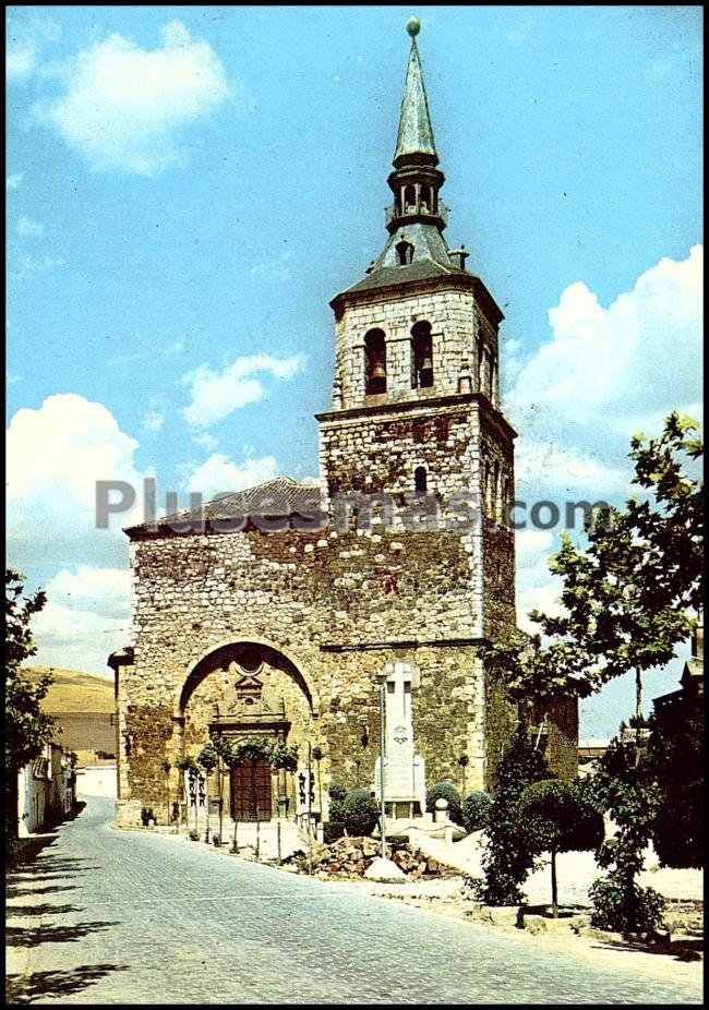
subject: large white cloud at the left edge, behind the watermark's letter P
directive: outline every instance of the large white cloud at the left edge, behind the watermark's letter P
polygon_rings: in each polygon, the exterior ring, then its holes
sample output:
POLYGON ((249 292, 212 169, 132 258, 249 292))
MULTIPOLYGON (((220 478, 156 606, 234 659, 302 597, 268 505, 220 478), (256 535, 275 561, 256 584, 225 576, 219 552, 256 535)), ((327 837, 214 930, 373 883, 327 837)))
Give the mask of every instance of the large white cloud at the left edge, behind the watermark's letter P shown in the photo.
MULTIPOLYGON (((76 394, 49 396, 22 408, 7 432, 9 554, 15 567, 127 563, 121 527, 141 521, 143 477, 134 462, 139 443, 103 404, 76 394), (124 481, 135 490, 130 510, 96 528, 96 481, 124 481)), ((117 494, 111 495, 111 501, 117 494)))

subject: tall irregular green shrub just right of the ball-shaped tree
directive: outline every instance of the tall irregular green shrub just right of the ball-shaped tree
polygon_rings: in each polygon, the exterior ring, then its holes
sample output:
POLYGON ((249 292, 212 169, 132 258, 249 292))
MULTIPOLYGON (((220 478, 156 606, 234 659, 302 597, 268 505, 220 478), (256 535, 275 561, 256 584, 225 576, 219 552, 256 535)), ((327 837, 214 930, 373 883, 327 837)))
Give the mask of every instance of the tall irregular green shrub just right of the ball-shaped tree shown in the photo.
POLYGON ((621 735, 599 761, 589 789, 597 805, 616 826, 612 838, 598 849, 597 863, 608 870, 593 881, 589 898, 591 924, 624 934, 653 934, 662 919, 664 901, 652 888, 641 888, 637 875, 652 835, 660 793, 648 773, 645 748, 621 735))

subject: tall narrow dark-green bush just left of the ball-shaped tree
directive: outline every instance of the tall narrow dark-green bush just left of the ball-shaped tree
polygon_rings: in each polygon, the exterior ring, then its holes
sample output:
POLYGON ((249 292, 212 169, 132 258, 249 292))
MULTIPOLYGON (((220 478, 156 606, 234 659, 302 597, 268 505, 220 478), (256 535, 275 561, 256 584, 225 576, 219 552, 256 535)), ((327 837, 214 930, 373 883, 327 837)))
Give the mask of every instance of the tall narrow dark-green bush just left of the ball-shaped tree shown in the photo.
POLYGON ((479 888, 485 904, 512 905, 524 900, 521 885, 534 864, 536 849, 520 802, 529 783, 548 778, 549 768, 520 721, 495 770, 482 854, 484 880, 479 888))

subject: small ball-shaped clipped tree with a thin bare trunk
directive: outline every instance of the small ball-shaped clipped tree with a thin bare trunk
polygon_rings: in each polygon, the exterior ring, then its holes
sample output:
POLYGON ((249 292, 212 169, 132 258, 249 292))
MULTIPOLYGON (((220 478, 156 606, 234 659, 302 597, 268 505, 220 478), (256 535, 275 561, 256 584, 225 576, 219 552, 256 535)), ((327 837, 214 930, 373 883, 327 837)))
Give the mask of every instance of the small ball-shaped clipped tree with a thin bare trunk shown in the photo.
POLYGON ((551 855, 552 914, 558 915, 556 855, 598 849, 603 841, 603 817, 575 785, 558 779, 533 782, 522 793, 521 816, 539 854, 551 855))

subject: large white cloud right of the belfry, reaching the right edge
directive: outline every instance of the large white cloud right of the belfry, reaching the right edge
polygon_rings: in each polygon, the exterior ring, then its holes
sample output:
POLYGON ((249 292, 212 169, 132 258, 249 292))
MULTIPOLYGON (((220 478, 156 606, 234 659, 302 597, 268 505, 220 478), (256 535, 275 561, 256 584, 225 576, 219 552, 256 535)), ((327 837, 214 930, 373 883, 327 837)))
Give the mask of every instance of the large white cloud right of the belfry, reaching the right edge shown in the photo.
POLYGON ((551 340, 516 377, 513 416, 629 435, 648 414, 700 400, 702 265, 701 245, 663 257, 608 309, 582 281, 567 287, 549 311, 551 340))

